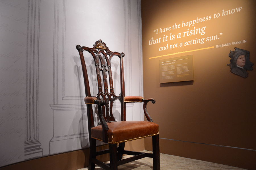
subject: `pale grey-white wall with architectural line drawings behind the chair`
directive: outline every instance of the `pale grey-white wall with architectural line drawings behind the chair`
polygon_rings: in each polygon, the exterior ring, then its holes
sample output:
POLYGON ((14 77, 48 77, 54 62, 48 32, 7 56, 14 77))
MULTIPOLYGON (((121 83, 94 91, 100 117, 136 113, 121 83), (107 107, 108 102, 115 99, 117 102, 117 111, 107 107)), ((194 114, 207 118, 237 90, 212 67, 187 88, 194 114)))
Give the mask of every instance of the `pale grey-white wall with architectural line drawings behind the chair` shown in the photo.
MULTIPOLYGON (((88 147, 77 44, 92 47, 102 39, 110 50, 124 52, 126 95, 143 95, 140 1, 0 3, 0 167, 88 147)), ((115 60, 112 69, 119 94, 115 60)), ((92 77, 90 85, 96 84, 92 77)), ((118 107, 114 116, 120 119, 118 107)), ((126 108, 127 120, 143 120, 141 104, 126 108)))

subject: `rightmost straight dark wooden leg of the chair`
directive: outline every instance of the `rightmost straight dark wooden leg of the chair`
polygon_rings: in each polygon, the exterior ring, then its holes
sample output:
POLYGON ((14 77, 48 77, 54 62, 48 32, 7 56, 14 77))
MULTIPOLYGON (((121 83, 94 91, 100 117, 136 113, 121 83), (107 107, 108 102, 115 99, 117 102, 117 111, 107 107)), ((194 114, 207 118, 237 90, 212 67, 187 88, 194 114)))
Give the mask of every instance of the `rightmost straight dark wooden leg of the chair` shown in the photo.
POLYGON ((153 170, 160 170, 159 135, 152 136, 153 170))

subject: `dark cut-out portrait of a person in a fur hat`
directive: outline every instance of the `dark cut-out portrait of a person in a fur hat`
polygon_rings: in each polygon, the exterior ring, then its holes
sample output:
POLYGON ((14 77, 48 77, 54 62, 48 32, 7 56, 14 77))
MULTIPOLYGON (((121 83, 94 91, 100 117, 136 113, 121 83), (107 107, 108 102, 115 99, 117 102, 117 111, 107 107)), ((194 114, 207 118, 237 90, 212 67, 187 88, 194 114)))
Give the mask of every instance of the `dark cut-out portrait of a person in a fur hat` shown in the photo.
POLYGON ((247 70, 253 70, 253 63, 250 61, 250 52, 235 47, 234 51, 230 50, 228 56, 231 58, 230 64, 227 64, 227 66, 230 66, 230 72, 243 78, 247 78, 247 70))

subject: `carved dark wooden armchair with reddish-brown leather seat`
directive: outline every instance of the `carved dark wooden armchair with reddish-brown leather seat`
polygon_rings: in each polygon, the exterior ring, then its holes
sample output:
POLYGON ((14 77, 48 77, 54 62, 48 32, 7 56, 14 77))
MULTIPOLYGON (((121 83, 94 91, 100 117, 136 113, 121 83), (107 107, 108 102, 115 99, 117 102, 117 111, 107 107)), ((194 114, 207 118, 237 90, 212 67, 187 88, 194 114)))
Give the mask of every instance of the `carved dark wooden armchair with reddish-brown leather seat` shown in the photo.
MULTIPOLYGON (((84 98, 87 115, 88 115, 88 131, 90 144, 89 170, 94 170, 95 164, 104 169, 117 170, 118 165, 132 162, 141 158, 153 158, 153 169, 160 169, 159 159, 159 125, 153 123, 152 118, 147 112, 146 105, 149 101, 155 103, 154 99, 144 99, 139 96, 125 96, 125 83, 123 72, 124 53, 112 52, 108 49, 102 40, 98 40, 93 44, 92 48, 85 46, 76 46, 84 76, 85 94, 84 98), (90 84, 88 81, 88 72, 86 70, 83 51, 89 52, 95 62, 98 94, 92 96, 90 92, 90 84), (113 89, 113 78, 111 71, 111 59, 118 57, 120 60, 120 84, 121 94, 116 95, 113 89), (103 87, 102 87, 103 82, 103 87), (108 87, 109 85, 109 87, 108 87), (121 121, 117 121, 113 116, 112 107, 114 101, 119 100, 121 103, 121 121), (142 102, 144 114, 147 121, 126 121, 125 104, 131 102, 142 102), (98 117, 100 123, 94 124, 94 113, 92 105, 97 105, 98 117), (153 153, 133 152, 124 150, 125 142, 135 139, 152 136, 153 153), (109 149, 96 152, 96 140, 109 144, 109 149), (117 147, 117 143, 119 146, 117 147), (102 154, 110 154, 110 163, 105 164, 96 159, 96 156, 102 154), (123 154, 133 155, 133 157, 122 160, 123 154)), ((89 75, 92 76, 92 75, 89 75)))

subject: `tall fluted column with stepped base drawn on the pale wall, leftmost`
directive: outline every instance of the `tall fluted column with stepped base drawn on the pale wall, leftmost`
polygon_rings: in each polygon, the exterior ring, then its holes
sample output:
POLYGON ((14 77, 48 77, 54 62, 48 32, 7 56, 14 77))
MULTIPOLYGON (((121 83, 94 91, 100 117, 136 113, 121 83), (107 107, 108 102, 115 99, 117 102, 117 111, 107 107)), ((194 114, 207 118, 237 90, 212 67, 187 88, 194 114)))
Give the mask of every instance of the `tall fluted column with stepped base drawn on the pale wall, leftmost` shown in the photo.
POLYGON ((38 50, 40 0, 28 1, 25 160, 42 156, 38 141, 38 50))

